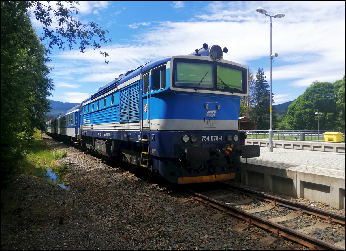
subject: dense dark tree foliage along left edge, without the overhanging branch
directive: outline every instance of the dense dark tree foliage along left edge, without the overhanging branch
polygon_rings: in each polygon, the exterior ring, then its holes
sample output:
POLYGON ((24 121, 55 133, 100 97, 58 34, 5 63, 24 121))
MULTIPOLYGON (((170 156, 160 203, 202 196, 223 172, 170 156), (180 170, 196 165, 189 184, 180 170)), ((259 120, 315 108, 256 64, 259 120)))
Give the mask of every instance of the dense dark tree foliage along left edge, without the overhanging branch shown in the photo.
POLYGON ((34 129, 44 129, 44 112, 49 110, 46 97, 53 90, 46 49, 24 6, 20 1, 1 2, 1 172, 5 180, 34 129))

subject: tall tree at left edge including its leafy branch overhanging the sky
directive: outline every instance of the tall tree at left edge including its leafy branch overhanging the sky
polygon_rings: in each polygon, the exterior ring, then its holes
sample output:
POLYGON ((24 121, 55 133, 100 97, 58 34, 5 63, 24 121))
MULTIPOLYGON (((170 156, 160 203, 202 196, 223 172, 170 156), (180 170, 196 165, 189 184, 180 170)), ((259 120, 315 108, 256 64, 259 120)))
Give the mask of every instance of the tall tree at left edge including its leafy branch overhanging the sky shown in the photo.
MULTIPOLYGON (((61 1, 54 2, 56 9, 38 1, 1 1, 1 188, 6 187, 9 177, 20 158, 25 155, 28 140, 35 128, 44 129, 49 110, 47 97, 51 95, 53 84, 46 63, 49 48, 57 45, 80 43, 84 52, 86 46, 100 51, 100 41, 107 42, 105 32, 98 25, 81 24, 72 18, 77 15, 78 1, 68 1, 65 8, 61 1), (28 8, 36 9, 36 18, 43 24, 44 33, 38 37, 31 26, 28 8), (73 11, 72 11, 73 10, 73 11), (52 15, 51 15, 52 13, 52 15), (55 18, 60 28, 51 29, 55 18), (47 40, 47 48, 41 41, 47 40)), ((108 61, 105 62, 108 63, 108 61)))

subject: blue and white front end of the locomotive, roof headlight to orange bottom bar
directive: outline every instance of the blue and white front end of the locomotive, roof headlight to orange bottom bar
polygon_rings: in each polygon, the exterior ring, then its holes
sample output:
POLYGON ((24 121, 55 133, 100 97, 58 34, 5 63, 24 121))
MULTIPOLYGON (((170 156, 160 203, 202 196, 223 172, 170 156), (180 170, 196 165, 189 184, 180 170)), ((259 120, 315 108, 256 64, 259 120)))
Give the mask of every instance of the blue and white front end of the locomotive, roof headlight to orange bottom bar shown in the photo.
POLYGON ((155 93, 149 87, 145 99, 153 168, 174 183, 233 179, 240 156, 259 156, 259 147, 245 146, 246 134, 237 131, 247 67, 222 59, 219 46, 200 50, 172 57, 160 74, 161 81, 170 77, 169 88, 155 93))

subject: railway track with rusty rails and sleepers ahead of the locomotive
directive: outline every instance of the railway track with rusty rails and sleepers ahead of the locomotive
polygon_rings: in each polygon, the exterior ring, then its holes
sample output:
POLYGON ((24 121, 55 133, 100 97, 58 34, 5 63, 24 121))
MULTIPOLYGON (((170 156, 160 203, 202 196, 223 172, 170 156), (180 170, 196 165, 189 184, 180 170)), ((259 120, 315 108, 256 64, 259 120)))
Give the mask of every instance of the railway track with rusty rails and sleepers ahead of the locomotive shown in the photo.
POLYGON ((213 191, 198 192, 193 190, 188 190, 188 192, 185 194, 188 195, 190 199, 196 199, 205 203, 206 206, 211 206, 222 211, 219 216, 216 215, 216 218, 228 214, 244 220, 243 223, 236 226, 236 230, 238 232, 253 226, 260 227, 261 229, 265 229, 266 231, 270 232, 270 235, 263 238, 265 240, 261 240, 263 243, 266 243, 266 245, 275 242, 279 238, 286 238, 292 242, 304 245, 311 250, 345 250, 345 240, 334 243, 334 245, 309 235, 323 229, 328 229, 330 226, 333 227, 333 225, 336 224, 344 226, 345 215, 328 212, 316 207, 292 202, 280 197, 259 193, 253 190, 235 187, 225 182, 221 182, 221 187, 223 190, 221 193, 220 189, 218 189, 218 192, 216 193, 215 191, 214 194, 213 191), (227 198, 234 196, 237 197, 236 194, 242 194, 243 199, 240 201, 229 199, 230 202, 227 202, 227 198), (239 205, 243 205, 244 207, 244 205, 252 204, 255 201, 266 202, 266 205, 248 210, 242 210, 236 207, 239 205), (277 207, 288 208, 290 213, 271 219, 265 219, 264 217, 257 215, 258 213, 263 214, 265 212, 270 212, 277 207), (304 226, 298 230, 284 225, 286 221, 299 219, 299 217, 304 214, 316 216, 323 220, 317 224, 306 227, 304 226))

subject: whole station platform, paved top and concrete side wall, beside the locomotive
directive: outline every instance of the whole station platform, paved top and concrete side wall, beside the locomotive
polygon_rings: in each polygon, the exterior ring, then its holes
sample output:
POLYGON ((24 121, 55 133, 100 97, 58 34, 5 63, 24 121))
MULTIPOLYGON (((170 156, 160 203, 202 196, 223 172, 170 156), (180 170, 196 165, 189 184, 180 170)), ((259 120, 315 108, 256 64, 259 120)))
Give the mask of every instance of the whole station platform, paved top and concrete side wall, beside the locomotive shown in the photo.
POLYGON ((345 153, 261 147, 242 162, 242 183, 345 209, 345 153))

